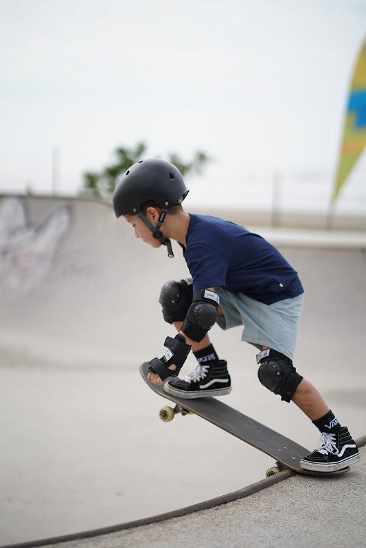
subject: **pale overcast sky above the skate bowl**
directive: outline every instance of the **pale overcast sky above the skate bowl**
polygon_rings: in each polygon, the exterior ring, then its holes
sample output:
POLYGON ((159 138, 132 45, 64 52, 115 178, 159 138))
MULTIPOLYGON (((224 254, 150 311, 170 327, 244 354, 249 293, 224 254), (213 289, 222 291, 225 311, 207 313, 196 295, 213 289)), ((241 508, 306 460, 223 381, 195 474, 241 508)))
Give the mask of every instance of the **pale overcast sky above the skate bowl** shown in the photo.
POLYGON ((205 150, 214 184, 335 169, 366 0, 0 8, 1 191, 49 191, 56 147, 59 191, 76 192, 82 171, 140 140, 148 156, 205 150))

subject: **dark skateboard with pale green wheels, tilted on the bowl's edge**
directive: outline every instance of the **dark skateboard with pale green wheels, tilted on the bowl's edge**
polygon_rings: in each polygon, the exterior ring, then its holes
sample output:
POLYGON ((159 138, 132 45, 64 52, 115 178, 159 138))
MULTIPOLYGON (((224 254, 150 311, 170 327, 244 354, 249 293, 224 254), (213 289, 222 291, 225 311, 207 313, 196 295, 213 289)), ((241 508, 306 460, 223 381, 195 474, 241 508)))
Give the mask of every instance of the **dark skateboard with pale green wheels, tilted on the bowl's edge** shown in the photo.
POLYGON ((152 384, 148 381, 148 366, 149 364, 146 362, 141 364, 139 368, 144 381, 159 396, 175 403, 175 407, 166 405, 160 410, 161 420, 169 422, 176 414, 183 416, 194 414, 208 420, 213 425, 229 432, 232 436, 236 436, 243 442, 259 449, 262 453, 273 457, 276 464, 266 470, 266 477, 286 470, 286 468, 290 468, 298 474, 306 475, 334 475, 350 470, 348 466, 334 472, 315 472, 300 468, 301 458, 309 455, 311 451, 212 396, 185 399, 167 394, 164 392, 162 384, 152 384))

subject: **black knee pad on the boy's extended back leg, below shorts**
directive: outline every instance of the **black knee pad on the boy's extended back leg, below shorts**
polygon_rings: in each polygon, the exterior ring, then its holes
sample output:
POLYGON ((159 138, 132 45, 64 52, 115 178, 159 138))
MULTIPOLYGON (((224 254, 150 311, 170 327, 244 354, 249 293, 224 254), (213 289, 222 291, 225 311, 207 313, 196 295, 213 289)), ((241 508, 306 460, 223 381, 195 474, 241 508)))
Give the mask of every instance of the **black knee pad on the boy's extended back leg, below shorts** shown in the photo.
POLYGON ((283 401, 291 401, 304 377, 299 375, 290 358, 276 350, 263 350, 258 354, 257 362, 260 364, 260 383, 274 394, 279 394, 283 401))

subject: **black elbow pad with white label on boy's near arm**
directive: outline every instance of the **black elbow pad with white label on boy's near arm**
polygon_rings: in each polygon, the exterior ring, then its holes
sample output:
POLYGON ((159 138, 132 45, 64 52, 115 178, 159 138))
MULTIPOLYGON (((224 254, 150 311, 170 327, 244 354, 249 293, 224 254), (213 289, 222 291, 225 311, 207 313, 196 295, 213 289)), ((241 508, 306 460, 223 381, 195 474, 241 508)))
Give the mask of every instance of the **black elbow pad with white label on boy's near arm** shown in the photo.
POLYGON ((209 289, 196 291, 183 322, 182 333, 192 341, 201 342, 217 320, 219 303, 220 298, 214 291, 209 289))

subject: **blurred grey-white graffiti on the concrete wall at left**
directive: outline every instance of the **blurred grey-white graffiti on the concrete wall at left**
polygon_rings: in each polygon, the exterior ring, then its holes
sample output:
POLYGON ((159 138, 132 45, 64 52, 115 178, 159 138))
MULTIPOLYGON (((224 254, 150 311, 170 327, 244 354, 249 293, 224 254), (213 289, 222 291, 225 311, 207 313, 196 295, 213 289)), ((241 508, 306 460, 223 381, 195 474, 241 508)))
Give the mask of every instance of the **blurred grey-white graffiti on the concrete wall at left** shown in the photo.
POLYGON ((43 222, 30 219, 21 198, 0 199, 0 290, 25 293, 40 283, 71 224, 71 206, 56 207, 43 222))

